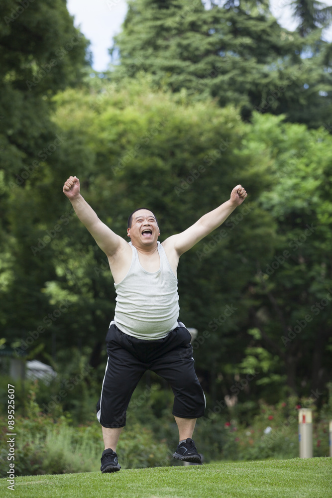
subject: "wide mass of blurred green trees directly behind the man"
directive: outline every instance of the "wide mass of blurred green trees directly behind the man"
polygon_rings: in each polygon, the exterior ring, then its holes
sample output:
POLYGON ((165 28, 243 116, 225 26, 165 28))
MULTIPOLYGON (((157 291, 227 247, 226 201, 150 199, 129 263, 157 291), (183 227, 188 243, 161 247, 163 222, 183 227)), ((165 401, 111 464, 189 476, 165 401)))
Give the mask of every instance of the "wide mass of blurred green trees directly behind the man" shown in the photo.
MULTIPOLYGON (((3 253, 6 306, 0 315, 4 337, 31 358, 54 362, 56 345, 55 366, 64 380, 80 373, 80 354, 93 367, 82 393, 79 387, 66 391, 52 413, 89 419, 104 376, 104 341, 115 304, 106 257, 61 192, 70 174, 81 178, 87 201, 123 237, 128 213, 148 204, 161 240, 243 184, 249 192, 245 204, 179 264, 180 318, 199 330, 199 377, 212 402, 232 396, 237 376, 245 380, 256 369, 254 381, 237 389, 241 406, 260 397, 276 403, 292 391, 308 396, 317 388, 321 404, 331 372, 329 307, 300 335, 288 335, 332 288, 328 124, 308 130, 259 113, 244 124, 233 107, 193 103, 185 92, 152 93, 143 79, 94 81, 89 90, 57 95, 55 104, 54 122, 66 136, 57 168, 45 164, 38 195, 32 178, 10 194, 12 238, 6 244, 12 253, 3 253), (319 228, 293 250, 307 225, 319 228), (75 351, 81 353, 76 357, 75 351)), ((57 397, 61 385, 51 389, 57 397)), ((41 405, 50 401, 45 392, 41 405)), ((160 414, 157 402, 155 410, 160 414)))

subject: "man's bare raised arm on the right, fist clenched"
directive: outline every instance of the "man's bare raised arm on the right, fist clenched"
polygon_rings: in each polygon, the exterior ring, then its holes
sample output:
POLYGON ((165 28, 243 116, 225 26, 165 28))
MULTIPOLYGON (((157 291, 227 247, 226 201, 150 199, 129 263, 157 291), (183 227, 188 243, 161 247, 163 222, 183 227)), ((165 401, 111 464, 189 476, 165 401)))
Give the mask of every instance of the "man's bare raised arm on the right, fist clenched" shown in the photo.
POLYGON ((241 185, 236 185, 231 191, 228 201, 224 202, 213 211, 203 215, 194 223, 194 225, 187 228, 184 232, 172 235, 166 239, 166 241, 163 242, 164 249, 166 251, 174 249, 178 256, 180 256, 218 228, 234 209, 242 204, 246 197, 247 193, 244 188, 241 185))

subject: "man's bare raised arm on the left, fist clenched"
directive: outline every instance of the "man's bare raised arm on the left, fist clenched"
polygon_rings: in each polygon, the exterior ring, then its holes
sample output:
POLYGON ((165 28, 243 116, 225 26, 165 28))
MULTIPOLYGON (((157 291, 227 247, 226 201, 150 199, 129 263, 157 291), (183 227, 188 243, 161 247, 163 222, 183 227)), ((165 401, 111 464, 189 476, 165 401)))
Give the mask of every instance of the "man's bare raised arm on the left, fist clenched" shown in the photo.
POLYGON ((70 176, 63 186, 63 193, 68 197, 79 220, 91 233, 98 246, 112 256, 120 247, 127 243, 124 239, 114 234, 97 216, 92 207, 80 194, 80 181, 76 176, 70 176))

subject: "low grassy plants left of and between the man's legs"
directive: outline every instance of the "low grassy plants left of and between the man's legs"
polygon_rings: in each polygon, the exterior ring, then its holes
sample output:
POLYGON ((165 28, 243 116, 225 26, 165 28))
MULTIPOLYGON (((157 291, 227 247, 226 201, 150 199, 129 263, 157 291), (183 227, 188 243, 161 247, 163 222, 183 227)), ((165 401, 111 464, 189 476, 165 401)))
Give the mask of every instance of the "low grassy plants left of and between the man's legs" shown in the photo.
MULTIPOLYGON (((102 428, 94 416, 94 422, 75 425, 69 413, 53 418, 42 412, 36 400, 34 383, 29 390, 26 416, 15 415, 15 475, 63 474, 94 472, 100 469, 100 458, 104 446, 102 428), (16 463, 17 461, 17 463, 16 463)), ((52 396, 51 396, 52 397, 52 396)), ((136 400, 138 398, 136 397, 136 400)), ((141 400, 131 402, 132 411, 141 400)), ((60 410, 61 412, 61 410, 60 410)), ((75 415, 75 409, 72 410, 75 415)), ((59 411, 58 411, 59 413, 59 411)), ((0 477, 6 476, 7 443, 5 419, 1 418, 3 437, 0 444, 0 477)), ((170 451, 158 441, 150 429, 138 422, 130 424, 122 434, 117 453, 121 467, 142 468, 170 465, 170 451)))

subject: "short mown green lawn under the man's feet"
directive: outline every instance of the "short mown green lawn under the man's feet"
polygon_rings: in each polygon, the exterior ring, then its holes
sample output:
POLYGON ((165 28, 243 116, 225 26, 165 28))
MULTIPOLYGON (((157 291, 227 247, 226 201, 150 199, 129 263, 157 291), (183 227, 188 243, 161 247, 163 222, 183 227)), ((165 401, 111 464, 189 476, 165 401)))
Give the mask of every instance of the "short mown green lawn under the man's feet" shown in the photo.
MULTIPOLYGON (((11 493, 5 479, 0 495, 11 493)), ((15 478, 16 498, 332 498, 332 458, 15 478)))

